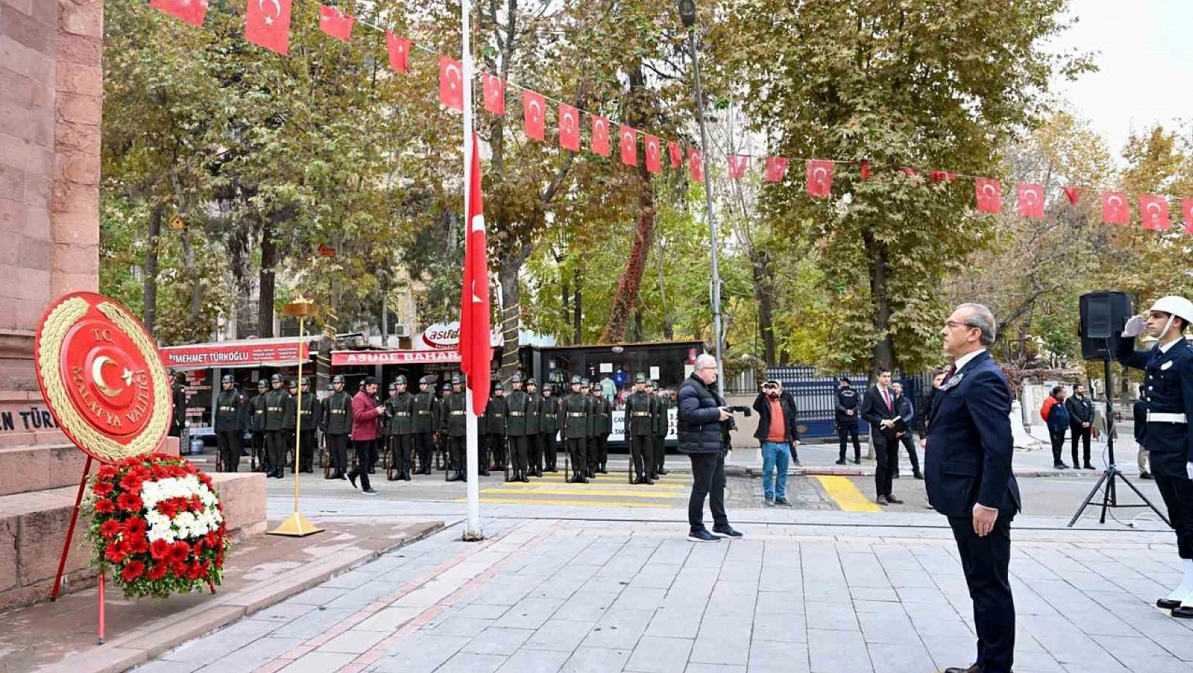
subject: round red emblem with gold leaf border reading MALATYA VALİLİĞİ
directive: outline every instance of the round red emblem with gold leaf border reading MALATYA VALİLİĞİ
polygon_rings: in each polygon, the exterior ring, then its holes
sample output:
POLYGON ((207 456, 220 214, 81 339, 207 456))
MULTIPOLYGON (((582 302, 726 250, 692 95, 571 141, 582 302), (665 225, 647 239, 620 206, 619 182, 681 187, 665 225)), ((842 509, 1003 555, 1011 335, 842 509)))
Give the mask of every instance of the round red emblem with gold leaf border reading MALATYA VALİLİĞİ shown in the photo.
POLYGON ((149 454, 166 437, 166 368, 153 337, 118 301, 94 292, 58 298, 42 316, 33 360, 58 426, 91 456, 149 454))

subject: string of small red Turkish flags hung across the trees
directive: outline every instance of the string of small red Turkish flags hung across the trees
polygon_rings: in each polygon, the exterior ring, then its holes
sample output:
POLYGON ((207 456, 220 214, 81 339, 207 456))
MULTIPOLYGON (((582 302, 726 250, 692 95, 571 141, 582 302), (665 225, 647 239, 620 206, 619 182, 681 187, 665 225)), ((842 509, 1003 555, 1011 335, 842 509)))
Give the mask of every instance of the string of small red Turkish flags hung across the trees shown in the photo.
MULTIPOLYGON (((247 0, 245 17, 245 38, 259 46, 280 54, 289 55, 290 24, 293 0, 247 0)), ((206 18, 208 0, 150 0, 149 5, 167 14, 177 17, 196 26, 203 26, 206 18)), ((464 110, 464 68, 460 61, 451 58, 419 44, 414 44, 408 38, 398 36, 382 26, 358 20, 352 14, 347 14, 336 7, 320 5, 319 27, 327 36, 344 43, 350 43, 356 24, 361 24, 369 29, 383 32, 385 36, 385 48, 389 56, 390 68, 395 73, 408 73, 410 69, 410 50, 418 49, 429 55, 439 57, 439 101, 450 110, 464 110)), ((483 91, 483 106, 490 114, 506 116, 506 89, 513 87, 521 91, 523 124, 527 137, 539 142, 546 141, 546 112, 548 101, 556 105, 558 119, 558 143, 560 147, 570 151, 581 151, 581 119, 589 118, 589 145, 593 154, 610 156, 610 133, 616 120, 600 116, 587 110, 581 110, 562 100, 534 92, 517 82, 505 81, 496 75, 478 70, 481 74, 481 86, 483 91)), ((649 173, 659 174, 663 169, 662 152, 663 143, 667 143, 667 162, 669 168, 681 169, 685 160, 688 173, 694 182, 704 182, 705 166, 703 154, 694 147, 684 145, 673 139, 660 138, 659 136, 639 131, 628 124, 617 123, 618 145, 622 163, 638 167, 638 136, 642 136, 645 151, 645 168, 649 173), (686 155, 686 156, 685 156, 686 155)), ((748 154, 728 154, 728 175, 731 180, 741 180, 746 173, 761 158, 748 154)), ((869 160, 826 160, 826 158, 790 158, 781 156, 766 156, 762 168, 762 180, 766 182, 781 182, 787 176, 787 168, 792 162, 804 162, 806 192, 812 198, 829 198, 833 191, 833 177, 837 164, 857 167, 860 180, 870 180, 876 168, 888 168, 884 164, 869 160)), ((907 166, 898 166, 897 172, 908 176, 920 176, 919 169, 907 166)), ((1001 213, 1003 210, 1002 182, 978 175, 966 175, 963 173, 951 173, 945 170, 931 170, 923 173, 928 181, 933 183, 948 183, 958 179, 973 181, 973 198, 977 210, 983 213, 1001 213)), ((1080 187, 1062 187, 1064 198, 1073 206, 1077 205, 1083 189, 1080 187)), ((1131 195, 1120 191, 1100 191, 1102 222, 1107 224, 1130 225, 1131 224, 1131 195)), ((1180 200, 1181 214, 1185 231, 1193 235, 1193 198, 1173 198, 1180 200)), ((1137 194, 1135 200, 1138 204, 1139 219, 1143 228, 1149 231, 1164 231, 1172 228, 1172 218, 1168 205, 1169 198, 1157 194, 1137 194)), ((1038 183, 1020 182, 1015 186, 1015 208, 1019 216, 1025 218, 1043 218, 1046 194, 1044 187, 1038 183)))

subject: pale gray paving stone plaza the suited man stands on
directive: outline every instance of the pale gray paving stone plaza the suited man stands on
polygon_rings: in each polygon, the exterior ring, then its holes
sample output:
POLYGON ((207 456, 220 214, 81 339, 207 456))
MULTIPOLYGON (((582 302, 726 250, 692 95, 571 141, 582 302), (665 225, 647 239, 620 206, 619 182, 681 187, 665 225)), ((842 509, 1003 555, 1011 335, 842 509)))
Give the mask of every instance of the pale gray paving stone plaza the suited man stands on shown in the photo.
MULTIPOLYGON (((670 522, 513 513, 488 519, 483 542, 459 542, 457 525, 137 672, 929 673, 973 660, 960 563, 931 515, 742 523, 742 540, 693 544, 670 522)), ((1037 523, 1013 532, 1018 673, 1193 673, 1193 621, 1152 605, 1180 577, 1170 532, 1037 523)))

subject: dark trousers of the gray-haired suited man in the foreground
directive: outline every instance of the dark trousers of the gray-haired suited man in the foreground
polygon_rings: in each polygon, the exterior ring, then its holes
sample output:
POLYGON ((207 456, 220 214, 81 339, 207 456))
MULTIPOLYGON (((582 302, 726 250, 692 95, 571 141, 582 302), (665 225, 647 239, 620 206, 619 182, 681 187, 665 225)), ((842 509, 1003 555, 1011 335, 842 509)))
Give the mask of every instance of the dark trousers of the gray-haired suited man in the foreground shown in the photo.
POLYGON ((1010 596, 1010 519, 1014 510, 999 512, 985 536, 973 532, 971 517, 948 517, 962 557, 965 584, 973 600, 977 663, 982 673, 1010 673, 1015 655, 1015 602, 1010 596))

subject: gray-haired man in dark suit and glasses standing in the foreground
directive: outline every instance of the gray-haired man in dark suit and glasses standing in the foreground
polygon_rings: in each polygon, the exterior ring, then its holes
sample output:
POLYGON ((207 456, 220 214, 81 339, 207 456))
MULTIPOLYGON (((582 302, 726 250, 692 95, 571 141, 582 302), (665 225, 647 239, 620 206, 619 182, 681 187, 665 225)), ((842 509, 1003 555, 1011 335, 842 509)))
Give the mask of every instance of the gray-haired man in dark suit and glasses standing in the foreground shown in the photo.
POLYGON ((977 661, 945 673, 1009 673, 1014 660, 1008 569, 1020 499, 1010 471, 1010 387, 987 351, 995 329, 989 309, 962 304, 940 332, 953 366, 933 405, 925 476, 929 500, 953 530, 977 630, 977 661))

